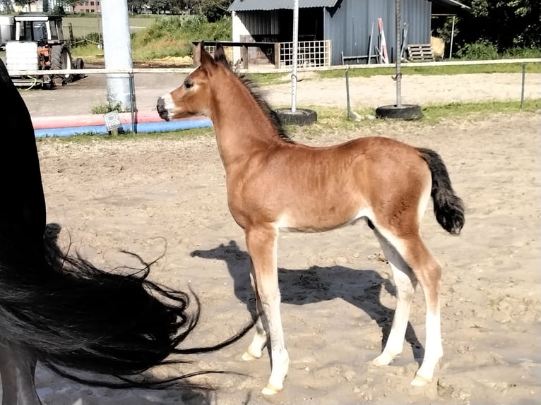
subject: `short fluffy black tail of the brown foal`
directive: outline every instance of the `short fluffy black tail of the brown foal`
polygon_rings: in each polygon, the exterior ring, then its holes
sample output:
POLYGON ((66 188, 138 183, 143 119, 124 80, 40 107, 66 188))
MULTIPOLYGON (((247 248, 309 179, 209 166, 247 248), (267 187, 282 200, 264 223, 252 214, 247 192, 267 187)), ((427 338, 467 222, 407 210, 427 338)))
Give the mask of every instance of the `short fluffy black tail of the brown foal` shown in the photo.
POLYGON ((455 194, 444 161, 434 150, 417 148, 432 173, 434 214, 439 224, 450 234, 458 235, 464 226, 464 203, 455 194))

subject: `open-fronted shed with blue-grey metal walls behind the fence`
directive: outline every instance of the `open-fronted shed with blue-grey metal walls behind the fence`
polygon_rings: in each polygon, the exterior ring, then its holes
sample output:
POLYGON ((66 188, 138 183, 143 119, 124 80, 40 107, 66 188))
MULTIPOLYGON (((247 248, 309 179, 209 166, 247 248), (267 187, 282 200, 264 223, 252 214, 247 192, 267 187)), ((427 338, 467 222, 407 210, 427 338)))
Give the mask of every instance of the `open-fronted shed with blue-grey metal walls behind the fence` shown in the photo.
MULTIPOLYGON (((433 7, 446 13, 467 8, 457 0, 402 0, 407 44, 430 42, 433 7)), ((288 44, 292 42, 292 9, 293 0, 234 0, 229 8, 233 42, 280 43, 280 59, 287 64, 291 54, 288 44)), ((299 0, 299 52, 302 55, 306 49, 306 54, 311 55, 307 63, 316 66, 343 64, 343 56, 360 56, 355 60, 367 63, 369 54, 381 50, 379 18, 392 62, 396 47, 395 0, 299 0)), ((263 49, 263 53, 270 61, 278 60, 270 55, 271 48, 263 49)), ((234 51, 234 60, 240 57, 234 51)))

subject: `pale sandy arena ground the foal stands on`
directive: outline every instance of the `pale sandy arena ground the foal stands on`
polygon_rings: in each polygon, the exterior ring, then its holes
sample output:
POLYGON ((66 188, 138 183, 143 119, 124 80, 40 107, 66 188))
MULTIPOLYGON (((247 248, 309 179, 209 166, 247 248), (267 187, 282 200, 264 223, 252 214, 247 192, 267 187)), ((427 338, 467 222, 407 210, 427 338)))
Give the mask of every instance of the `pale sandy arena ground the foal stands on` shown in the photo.
MULTIPOLYGON (((419 354, 424 345, 420 290, 403 355, 383 368, 370 363, 381 350, 395 298, 390 270, 377 258, 379 246, 359 224, 326 234, 280 236, 291 365, 285 390, 277 396, 266 399, 259 393, 268 378, 267 354, 259 361, 240 360, 250 337, 182 368, 246 373, 208 377, 220 387, 213 394, 95 389, 40 368, 40 396, 54 405, 537 403, 540 128, 539 114, 494 114, 436 126, 374 123, 357 133, 297 138, 322 145, 386 135, 432 147, 444 158, 467 214, 458 238, 439 227, 432 209, 423 222, 427 244, 444 267, 444 358, 427 387, 409 384, 417 369, 413 352, 419 354)), ((49 222, 62 224, 63 240, 69 231, 73 248, 85 257, 108 268, 133 265, 119 249, 153 260, 167 241, 153 279, 180 289, 191 286, 203 305, 201 324, 185 347, 215 343, 249 320, 253 296, 246 246, 227 210, 224 171, 211 136, 43 140, 38 149, 49 222)))

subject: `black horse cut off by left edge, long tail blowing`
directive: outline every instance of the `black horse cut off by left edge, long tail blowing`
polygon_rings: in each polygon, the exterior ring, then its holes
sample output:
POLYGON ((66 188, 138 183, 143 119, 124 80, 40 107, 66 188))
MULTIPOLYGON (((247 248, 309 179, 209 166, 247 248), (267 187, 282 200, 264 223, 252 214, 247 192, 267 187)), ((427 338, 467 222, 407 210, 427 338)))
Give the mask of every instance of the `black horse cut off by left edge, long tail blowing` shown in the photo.
MULTIPOLYGON (((37 361, 73 380, 107 387, 165 387, 179 380, 137 382, 130 375, 167 363, 195 327, 189 297, 135 274, 98 270, 63 255, 47 235, 34 131, 23 99, 0 61, 0 374, 4 405, 40 405, 37 361), (71 369, 117 377, 84 380, 71 369)), ((133 273, 133 271, 132 271, 133 273)))

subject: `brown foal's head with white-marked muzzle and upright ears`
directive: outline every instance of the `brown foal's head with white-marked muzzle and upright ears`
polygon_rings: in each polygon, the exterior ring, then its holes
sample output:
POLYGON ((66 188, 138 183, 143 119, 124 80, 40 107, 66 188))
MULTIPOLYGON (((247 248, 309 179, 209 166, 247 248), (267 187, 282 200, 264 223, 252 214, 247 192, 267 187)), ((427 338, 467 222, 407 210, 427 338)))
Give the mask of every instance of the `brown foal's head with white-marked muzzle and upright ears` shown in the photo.
MULTIPOLYGON (((191 72, 177 89, 157 99, 156 109, 165 121, 191 115, 210 116, 210 80, 213 75, 230 71, 223 47, 216 45, 214 58, 198 44, 198 67, 191 72)), ((232 72, 231 72, 232 73, 232 72)))

